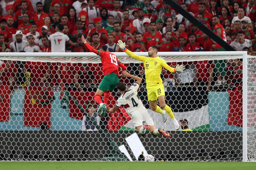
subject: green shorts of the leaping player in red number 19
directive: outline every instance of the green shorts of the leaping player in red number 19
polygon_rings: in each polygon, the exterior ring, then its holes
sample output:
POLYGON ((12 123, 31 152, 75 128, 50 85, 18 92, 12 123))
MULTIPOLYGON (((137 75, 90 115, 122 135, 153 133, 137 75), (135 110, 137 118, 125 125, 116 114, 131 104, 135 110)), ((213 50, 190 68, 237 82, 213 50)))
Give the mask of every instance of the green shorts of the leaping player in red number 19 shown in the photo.
POLYGON ((98 89, 102 90, 103 92, 106 92, 107 90, 113 91, 114 88, 117 86, 118 82, 119 78, 117 74, 110 73, 108 75, 104 75, 103 79, 101 80, 101 83, 99 84, 98 89))

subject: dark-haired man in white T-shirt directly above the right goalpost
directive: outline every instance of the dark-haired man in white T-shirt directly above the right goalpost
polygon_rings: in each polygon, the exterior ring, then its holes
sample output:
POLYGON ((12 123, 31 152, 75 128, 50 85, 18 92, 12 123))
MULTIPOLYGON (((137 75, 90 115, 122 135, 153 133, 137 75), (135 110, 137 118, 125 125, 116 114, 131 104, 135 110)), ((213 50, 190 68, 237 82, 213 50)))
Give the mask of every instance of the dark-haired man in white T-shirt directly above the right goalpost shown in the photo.
POLYGON ((245 32, 238 31, 237 33, 238 41, 233 41, 230 46, 233 47, 237 51, 243 51, 243 48, 248 47, 250 53, 253 51, 253 45, 251 40, 245 39, 245 32))

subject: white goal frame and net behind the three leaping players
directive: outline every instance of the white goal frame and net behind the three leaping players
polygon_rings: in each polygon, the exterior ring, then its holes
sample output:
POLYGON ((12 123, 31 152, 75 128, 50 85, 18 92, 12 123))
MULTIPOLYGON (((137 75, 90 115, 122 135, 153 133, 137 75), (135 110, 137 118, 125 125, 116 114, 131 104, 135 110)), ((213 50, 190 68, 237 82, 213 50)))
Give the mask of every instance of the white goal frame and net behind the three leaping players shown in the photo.
MULTIPOLYGON (((96 54, 1 53, 0 160, 137 161, 151 154, 157 161, 256 161, 255 56, 159 52, 168 65, 185 66, 183 73, 161 72, 166 104, 181 124, 176 131, 168 115, 163 123, 150 109, 143 63, 115 55, 143 79, 138 95, 170 138, 149 131, 141 137, 125 107, 99 117, 93 98, 103 72, 96 54)), ((120 95, 115 88, 107 105, 120 95)))

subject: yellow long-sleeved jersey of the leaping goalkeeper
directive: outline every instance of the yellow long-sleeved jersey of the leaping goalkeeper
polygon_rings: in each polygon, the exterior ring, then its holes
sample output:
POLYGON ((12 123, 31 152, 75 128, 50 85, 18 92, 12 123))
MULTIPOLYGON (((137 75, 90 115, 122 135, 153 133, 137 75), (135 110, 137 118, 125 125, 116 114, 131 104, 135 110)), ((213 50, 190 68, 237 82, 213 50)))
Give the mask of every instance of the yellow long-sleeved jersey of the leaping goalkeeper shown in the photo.
POLYGON ((163 83, 160 77, 163 67, 165 67, 165 69, 169 70, 170 72, 175 72, 175 69, 173 67, 167 65, 165 60, 159 58, 158 56, 155 58, 138 56, 127 49, 125 49, 124 51, 130 57, 135 58, 136 60, 142 61, 144 63, 147 85, 158 85, 163 83))

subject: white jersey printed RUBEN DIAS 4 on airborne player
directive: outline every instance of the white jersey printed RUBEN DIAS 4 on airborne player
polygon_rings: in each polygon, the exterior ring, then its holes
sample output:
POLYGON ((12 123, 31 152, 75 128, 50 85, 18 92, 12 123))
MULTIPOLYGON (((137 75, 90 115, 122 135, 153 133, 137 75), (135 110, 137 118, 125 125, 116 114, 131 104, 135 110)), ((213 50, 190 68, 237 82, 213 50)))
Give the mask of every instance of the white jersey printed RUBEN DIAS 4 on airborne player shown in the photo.
POLYGON ((117 99, 116 106, 120 107, 123 105, 131 116, 133 116, 135 112, 146 110, 142 104, 141 99, 139 99, 137 96, 138 88, 139 84, 133 83, 133 85, 117 99))

